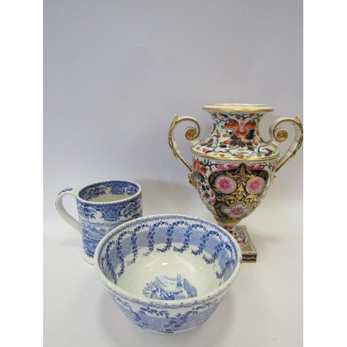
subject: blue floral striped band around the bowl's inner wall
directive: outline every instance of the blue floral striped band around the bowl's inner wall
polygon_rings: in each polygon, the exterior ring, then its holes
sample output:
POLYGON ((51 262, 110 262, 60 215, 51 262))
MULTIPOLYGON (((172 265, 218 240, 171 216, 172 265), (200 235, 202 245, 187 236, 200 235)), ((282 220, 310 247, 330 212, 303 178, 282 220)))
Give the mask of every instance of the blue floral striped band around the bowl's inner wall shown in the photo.
MULTIPOLYGON (((155 219, 155 217, 151 218, 155 219)), ((173 246, 173 241, 175 244, 182 244, 180 247, 173 247, 175 252, 188 251, 196 256, 204 253, 202 257, 206 264, 221 264, 221 272, 216 271, 216 278, 221 279, 223 276, 230 276, 237 264, 237 248, 234 243, 225 239, 225 234, 221 234, 221 231, 211 230, 211 226, 215 229, 212 223, 209 227, 203 223, 189 223, 185 220, 168 222, 160 220, 160 217, 157 218, 159 221, 155 221, 155 223, 144 221, 141 225, 137 225, 132 232, 123 229, 118 230, 117 241, 112 241, 112 243, 115 242, 116 246, 111 247, 109 244, 106 248, 105 256, 100 262, 101 269, 104 271, 109 269, 106 272, 110 274, 115 285, 117 285, 118 278, 124 273, 126 266, 124 258, 127 255, 133 253, 133 261, 127 264, 130 266, 137 259, 139 248, 142 251, 148 250, 142 253, 142 256, 147 257, 152 251, 158 253, 169 251, 173 246), (196 235, 200 236, 191 239, 192 232, 190 230, 193 228, 196 230, 196 235), (128 235, 131 237, 129 238, 128 235), (164 248, 155 248, 154 244, 165 244, 165 246, 164 248), (112 256, 110 256, 111 254, 112 256), (116 268, 119 270, 115 271, 116 268)), ((136 224, 136 221, 134 223, 136 224)), ((231 238, 230 235, 228 237, 231 238)))

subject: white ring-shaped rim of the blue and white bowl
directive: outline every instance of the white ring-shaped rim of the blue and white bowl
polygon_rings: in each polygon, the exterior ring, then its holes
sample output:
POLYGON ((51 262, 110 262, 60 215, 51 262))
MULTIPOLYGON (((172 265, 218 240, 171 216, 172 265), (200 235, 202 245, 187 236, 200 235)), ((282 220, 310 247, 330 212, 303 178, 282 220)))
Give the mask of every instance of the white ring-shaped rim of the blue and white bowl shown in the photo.
POLYGON ((242 264, 241 248, 240 248, 239 244, 237 243, 236 239, 234 237, 232 237, 232 235, 230 235, 230 233, 228 231, 226 231, 225 229, 223 229, 221 226, 219 226, 216 223, 213 223, 213 222, 208 221, 206 219, 201 219, 199 217, 189 216, 186 214, 152 214, 149 216, 139 217, 137 219, 132 219, 130 221, 126 221, 125 223, 122 223, 120 226, 117 226, 116 228, 114 228, 110 232, 108 232, 101 239, 101 241, 99 242, 98 246, 96 247, 96 250, 94 253, 94 267, 96 269, 96 273, 98 273, 99 277, 101 278, 102 282, 106 285, 106 287, 112 289, 112 291, 115 291, 117 294, 122 295, 124 298, 127 298, 128 300, 136 301, 138 303, 143 303, 145 305, 162 305, 162 306, 175 305, 176 306, 178 304, 184 305, 185 303, 198 303, 201 301, 205 301, 206 298, 214 298, 216 296, 219 296, 219 294, 223 293, 223 291, 226 291, 226 289, 228 289, 228 287, 230 287, 233 280, 235 280, 237 273, 239 273, 239 269, 241 267, 241 264, 242 264), (211 224, 215 228, 219 229, 219 231, 221 231, 223 233, 223 235, 225 235, 228 239, 230 239, 231 242, 233 244, 235 244, 235 246, 237 248, 237 264, 235 266, 234 271, 232 272, 232 274, 228 278, 228 280, 226 280, 226 282, 223 282, 220 287, 217 287, 216 289, 213 289, 212 291, 209 291, 208 293, 195 296, 194 298, 185 298, 185 299, 180 299, 180 300, 163 300, 163 299, 146 298, 144 296, 139 296, 137 294, 133 294, 132 292, 127 291, 127 290, 115 285, 115 283, 113 283, 112 281, 110 281, 105 276, 103 271, 101 270, 101 268, 99 266, 98 259, 97 259, 99 257, 99 253, 101 252, 101 248, 103 247, 103 244, 106 242, 106 239, 108 239, 114 235, 117 235, 117 232, 119 232, 119 230, 121 230, 121 228, 126 227, 128 224, 137 223, 137 222, 141 223, 141 221, 144 221, 145 219, 151 219, 153 217, 173 217, 173 218, 183 218, 183 219, 189 218, 189 219, 194 219, 196 221, 200 221, 203 223, 211 224))

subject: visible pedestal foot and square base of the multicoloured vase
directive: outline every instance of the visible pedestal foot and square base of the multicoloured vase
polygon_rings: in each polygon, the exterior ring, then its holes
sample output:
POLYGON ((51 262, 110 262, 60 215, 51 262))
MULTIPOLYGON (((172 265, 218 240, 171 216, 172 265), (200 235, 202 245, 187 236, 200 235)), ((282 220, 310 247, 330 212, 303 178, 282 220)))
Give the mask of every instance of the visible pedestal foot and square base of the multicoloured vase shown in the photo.
POLYGON ((256 262, 257 251, 255 251, 251 237, 246 226, 226 226, 219 223, 219 226, 226 229, 238 242, 242 251, 242 262, 256 262))

